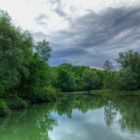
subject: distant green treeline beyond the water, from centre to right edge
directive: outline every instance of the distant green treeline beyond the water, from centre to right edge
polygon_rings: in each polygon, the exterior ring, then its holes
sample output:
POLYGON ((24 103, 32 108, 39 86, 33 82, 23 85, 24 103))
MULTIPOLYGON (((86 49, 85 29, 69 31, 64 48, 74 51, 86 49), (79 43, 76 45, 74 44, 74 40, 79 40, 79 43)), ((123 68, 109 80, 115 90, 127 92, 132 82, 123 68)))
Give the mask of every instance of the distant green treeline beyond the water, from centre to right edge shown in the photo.
POLYGON ((61 91, 140 89, 140 54, 134 51, 119 53, 116 61, 119 70, 115 70, 108 60, 102 70, 71 64, 52 67, 52 85, 61 91))

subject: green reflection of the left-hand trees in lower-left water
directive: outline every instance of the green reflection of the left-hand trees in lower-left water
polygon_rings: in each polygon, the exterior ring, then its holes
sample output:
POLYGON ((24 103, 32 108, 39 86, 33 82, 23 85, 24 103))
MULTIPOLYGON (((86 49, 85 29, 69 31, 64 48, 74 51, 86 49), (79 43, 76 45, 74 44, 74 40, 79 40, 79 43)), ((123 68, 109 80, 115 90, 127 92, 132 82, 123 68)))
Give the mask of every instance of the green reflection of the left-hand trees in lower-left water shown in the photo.
POLYGON ((49 140, 48 130, 52 130, 57 121, 50 116, 50 105, 40 107, 17 111, 1 119, 0 140, 49 140))

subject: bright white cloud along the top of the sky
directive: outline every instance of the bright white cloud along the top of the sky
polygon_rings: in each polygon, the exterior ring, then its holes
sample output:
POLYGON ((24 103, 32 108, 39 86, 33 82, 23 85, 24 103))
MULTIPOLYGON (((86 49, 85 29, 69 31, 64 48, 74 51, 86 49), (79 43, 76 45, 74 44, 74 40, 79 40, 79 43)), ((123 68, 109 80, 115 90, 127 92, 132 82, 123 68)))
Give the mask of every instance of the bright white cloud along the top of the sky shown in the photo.
MULTIPOLYGON (((61 6, 71 18, 85 14, 87 9, 99 12, 107 7, 133 6, 137 3, 138 0, 61 0, 61 6)), ((41 13, 50 17, 46 21, 47 32, 68 27, 67 21, 53 11, 55 7, 56 4, 53 4, 51 0, 0 0, 0 8, 8 11, 17 25, 34 31, 44 31, 44 27, 42 29, 33 20, 41 13)))

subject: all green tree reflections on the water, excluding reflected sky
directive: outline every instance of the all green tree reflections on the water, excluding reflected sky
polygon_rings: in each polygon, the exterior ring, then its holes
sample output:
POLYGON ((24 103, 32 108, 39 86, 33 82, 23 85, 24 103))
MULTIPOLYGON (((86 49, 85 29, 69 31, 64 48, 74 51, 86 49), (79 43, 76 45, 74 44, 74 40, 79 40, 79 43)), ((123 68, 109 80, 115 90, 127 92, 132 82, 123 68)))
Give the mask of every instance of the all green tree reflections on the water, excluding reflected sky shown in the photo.
POLYGON ((104 121, 109 127, 119 113, 121 129, 140 131, 139 106, 138 97, 66 95, 55 103, 35 105, 26 110, 15 111, 7 118, 1 118, 0 140, 49 140, 49 132, 57 125, 57 118, 54 118, 52 112, 71 118, 75 109, 85 114, 104 108, 104 121))

